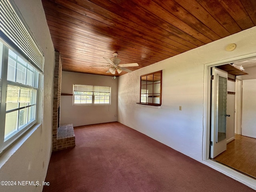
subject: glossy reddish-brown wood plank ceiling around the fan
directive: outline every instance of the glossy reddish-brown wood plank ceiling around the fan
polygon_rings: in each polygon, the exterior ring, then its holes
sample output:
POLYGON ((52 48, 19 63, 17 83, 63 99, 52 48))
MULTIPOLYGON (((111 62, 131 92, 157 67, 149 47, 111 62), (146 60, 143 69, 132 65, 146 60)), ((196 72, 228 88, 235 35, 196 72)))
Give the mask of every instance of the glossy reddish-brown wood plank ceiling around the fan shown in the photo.
MULTIPOLYGON (((256 26, 255 0, 42 0, 62 70, 106 73, 103 57, 154 64, 256 26), (94 67, 92 67, 94 66, 94 67)), ((125 74, 121 72, 116 76, 125 74)), ((113 75, 112 75, 113 76, 113 75)))

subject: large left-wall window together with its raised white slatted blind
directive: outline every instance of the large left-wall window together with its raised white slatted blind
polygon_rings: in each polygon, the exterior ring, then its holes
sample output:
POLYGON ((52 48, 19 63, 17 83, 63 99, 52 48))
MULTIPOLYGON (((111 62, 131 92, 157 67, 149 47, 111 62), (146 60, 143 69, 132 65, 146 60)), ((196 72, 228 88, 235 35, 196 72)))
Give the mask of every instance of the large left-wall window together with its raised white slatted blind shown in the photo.
POLYGON ((13 1, 0 3, 0 152, 36 123, 44 55, 13 1))

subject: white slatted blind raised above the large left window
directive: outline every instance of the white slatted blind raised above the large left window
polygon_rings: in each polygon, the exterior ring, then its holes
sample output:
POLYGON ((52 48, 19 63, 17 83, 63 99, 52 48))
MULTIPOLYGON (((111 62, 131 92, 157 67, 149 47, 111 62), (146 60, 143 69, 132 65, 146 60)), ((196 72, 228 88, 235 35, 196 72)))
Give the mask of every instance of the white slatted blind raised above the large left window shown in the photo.
POLYGON ((28 31, 15 4, 10 0, 0 1, 0 37, 18 51, 19 56, 43 73, 44 55, 28 31))

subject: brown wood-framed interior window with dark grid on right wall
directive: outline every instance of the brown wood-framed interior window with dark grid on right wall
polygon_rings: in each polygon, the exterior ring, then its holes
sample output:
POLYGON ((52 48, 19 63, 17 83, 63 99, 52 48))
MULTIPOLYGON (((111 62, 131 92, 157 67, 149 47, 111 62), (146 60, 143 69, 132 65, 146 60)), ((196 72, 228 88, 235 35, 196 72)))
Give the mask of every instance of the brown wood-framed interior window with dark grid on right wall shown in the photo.
POLYGON ((137 104, 161 106, 162 71, 140 76, 140 102, 137 104))

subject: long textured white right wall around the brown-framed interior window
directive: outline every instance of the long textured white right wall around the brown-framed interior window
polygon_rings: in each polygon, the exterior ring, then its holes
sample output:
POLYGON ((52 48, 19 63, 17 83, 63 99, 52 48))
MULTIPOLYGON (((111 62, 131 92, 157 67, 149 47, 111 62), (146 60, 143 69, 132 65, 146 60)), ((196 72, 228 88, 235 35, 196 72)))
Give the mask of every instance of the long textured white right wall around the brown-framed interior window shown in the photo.
POLYGON ((119 77, 118 121, 202 162, 204 64, 255 52, 256 27, 119 77), (235 43, 232 52, 225 47, 235 43), (139 102, 140 76, 163 70, 162 106, 139 102), (182 106, 182 111, 179 111, 182 106))

